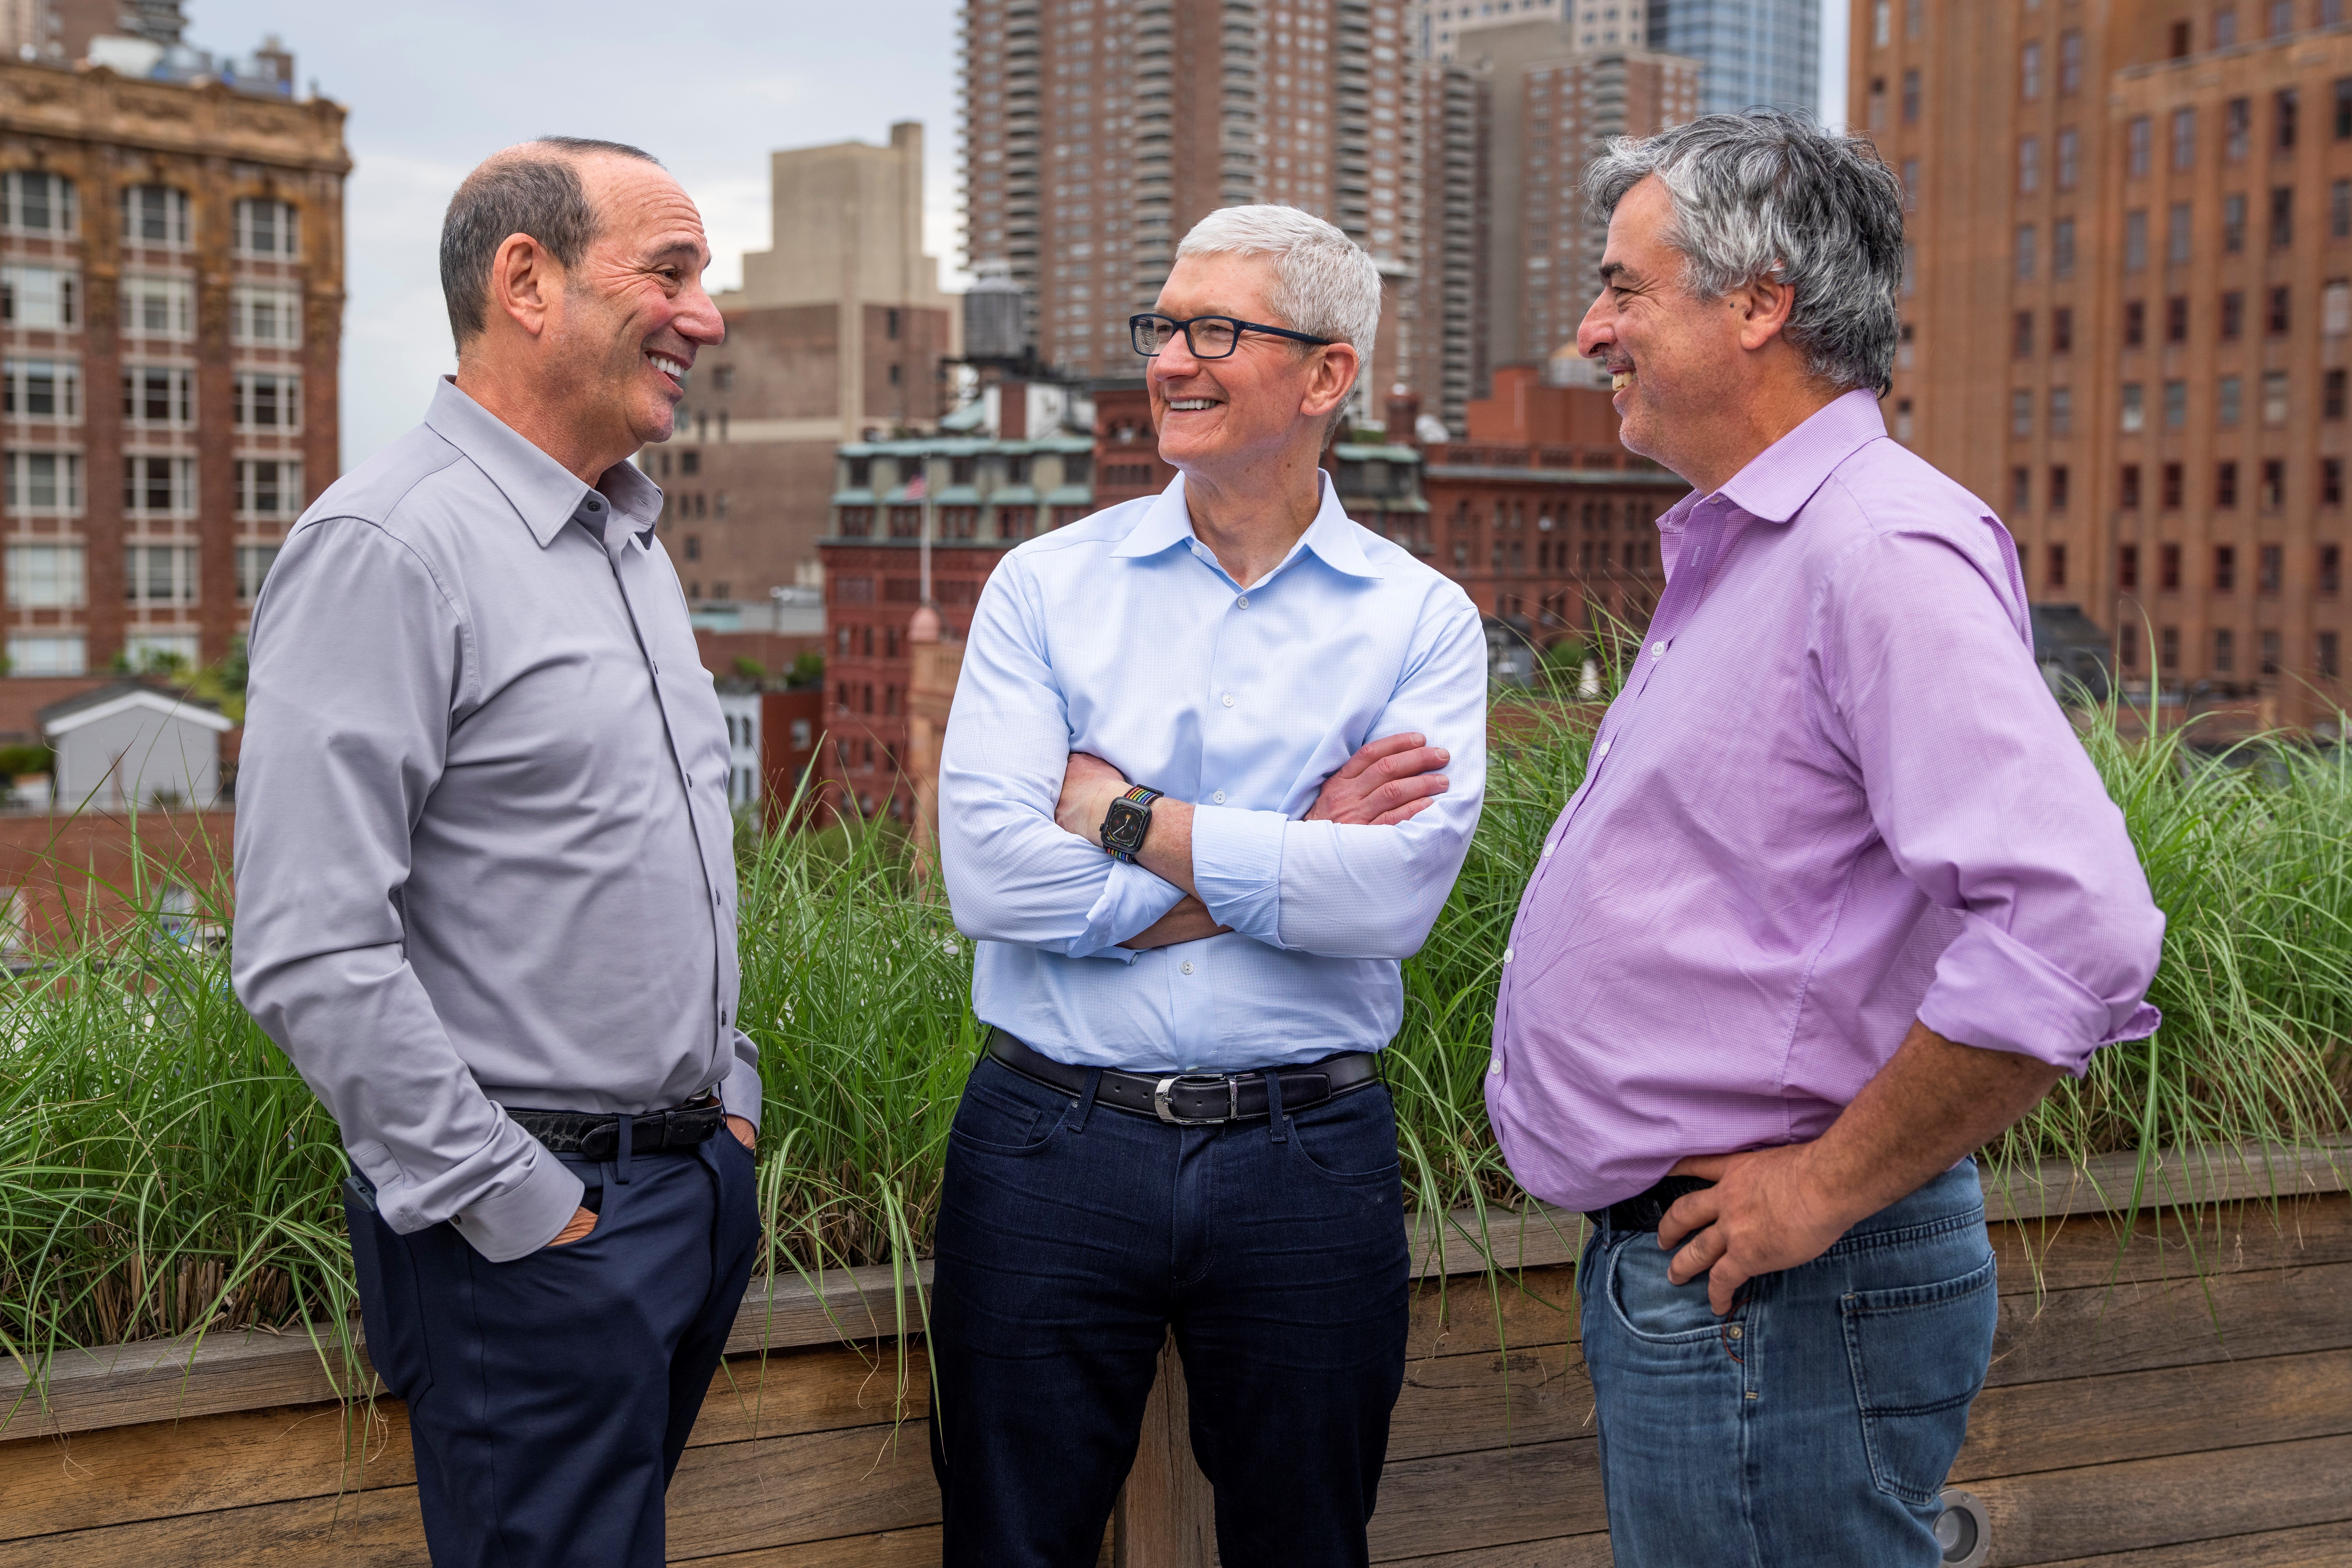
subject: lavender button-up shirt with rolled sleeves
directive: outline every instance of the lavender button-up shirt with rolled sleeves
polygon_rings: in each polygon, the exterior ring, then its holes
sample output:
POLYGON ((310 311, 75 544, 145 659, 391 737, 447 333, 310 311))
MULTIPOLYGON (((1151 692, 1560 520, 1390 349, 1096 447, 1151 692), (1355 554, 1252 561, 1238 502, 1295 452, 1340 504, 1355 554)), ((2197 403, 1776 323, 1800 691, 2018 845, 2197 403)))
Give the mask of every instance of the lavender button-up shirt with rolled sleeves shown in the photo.
POLYGON ((1985 503, 1856 390, 1658 527, 1665 597, 1503 954, 1519 1182, 1602 1208, 1818 1138, 1915 1018, 2077 1074, 2150 1034, 2164 914, 1985 503))

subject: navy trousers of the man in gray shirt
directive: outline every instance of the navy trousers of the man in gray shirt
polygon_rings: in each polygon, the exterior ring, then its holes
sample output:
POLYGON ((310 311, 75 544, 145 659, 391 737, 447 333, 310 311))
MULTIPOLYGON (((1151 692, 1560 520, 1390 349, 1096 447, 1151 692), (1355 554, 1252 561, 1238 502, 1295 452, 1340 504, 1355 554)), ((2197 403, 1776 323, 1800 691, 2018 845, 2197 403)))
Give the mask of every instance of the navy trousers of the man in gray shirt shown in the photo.
POLYGON ((402 1237, 346 1194, 367 1354, 409 1406, 435 1568, 659 1568, 663 1490, 743 1305, 753 1157, 564 1159, 595 1229, 489 1262, 452 1225, 402 1237))

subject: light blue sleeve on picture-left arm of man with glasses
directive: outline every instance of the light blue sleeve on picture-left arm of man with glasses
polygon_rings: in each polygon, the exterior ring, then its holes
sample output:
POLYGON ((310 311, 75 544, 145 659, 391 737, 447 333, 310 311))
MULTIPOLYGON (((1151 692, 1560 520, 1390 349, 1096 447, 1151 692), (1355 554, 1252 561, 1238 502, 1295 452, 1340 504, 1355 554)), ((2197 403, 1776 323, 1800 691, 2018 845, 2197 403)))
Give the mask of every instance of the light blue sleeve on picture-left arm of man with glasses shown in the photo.
POLYGON ((1047 661, 1044 614, 1018 557, 988 578, 964 642, 938 759, 938 870, 955 929, 1070 959, 1120 947, 1183 889, 1115 860, 1054 820, 1070 715, 1047 661))

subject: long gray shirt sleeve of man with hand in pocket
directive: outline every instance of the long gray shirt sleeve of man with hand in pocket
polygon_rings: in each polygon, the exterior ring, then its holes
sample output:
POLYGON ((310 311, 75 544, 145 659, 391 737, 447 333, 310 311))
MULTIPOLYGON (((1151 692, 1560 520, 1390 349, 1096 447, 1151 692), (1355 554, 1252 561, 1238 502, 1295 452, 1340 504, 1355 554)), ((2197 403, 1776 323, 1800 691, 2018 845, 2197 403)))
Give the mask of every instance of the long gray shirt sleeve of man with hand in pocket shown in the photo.
POLYGON ((546 1246, 581 1180, 475 1084, 402 945, 409 835, 468 689, 468 630, 400 541, 299 529, 254 607, 238 769, 238 999, 292 1058, 397 1232, 454 1220, 494 1262, 546 1246))

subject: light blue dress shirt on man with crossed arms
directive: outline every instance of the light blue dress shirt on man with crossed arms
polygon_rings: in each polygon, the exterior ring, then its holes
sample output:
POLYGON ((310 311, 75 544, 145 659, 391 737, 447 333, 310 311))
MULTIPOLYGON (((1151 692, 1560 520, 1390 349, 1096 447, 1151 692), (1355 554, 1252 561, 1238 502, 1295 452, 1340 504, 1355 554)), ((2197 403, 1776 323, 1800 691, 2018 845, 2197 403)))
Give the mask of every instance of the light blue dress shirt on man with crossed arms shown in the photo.
POLYGON ((938 769, 974 1009, 1084 1067, 1378 1051, 1484 790, 1479 614, 1350 522, 1329 475, 1305 536, 1247 590, 1192 536, 1183 477, 1033 538, 981 595, 938 769), (1430 809, 1395 827, 1301 820, 1357 748, 1402 731, 1451 752, 1430 809), (1192 882, 1228 936, 1120 947, 1181 891, 1054 823, 1070 752, 1192 802, 1192 882))

